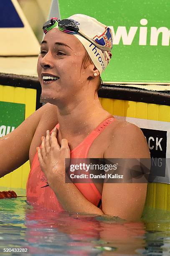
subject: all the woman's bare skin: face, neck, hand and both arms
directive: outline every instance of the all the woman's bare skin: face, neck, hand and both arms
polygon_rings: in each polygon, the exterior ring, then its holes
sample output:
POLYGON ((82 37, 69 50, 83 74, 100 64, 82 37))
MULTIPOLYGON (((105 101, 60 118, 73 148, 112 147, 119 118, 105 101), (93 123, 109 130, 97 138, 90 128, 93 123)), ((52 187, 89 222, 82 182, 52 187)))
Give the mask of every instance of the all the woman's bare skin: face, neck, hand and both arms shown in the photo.
MULTIPOLYGON (((63 182, 65 170, 61 166, 65 156, 68 156, 70 150, 78 146, 103 120, 112 115, 102 108, 95 94, 99 79, 98 70, 94 64, 89 63, 86 67, 82 65, 85 49, 78 39, 52 29, 46 34, 44 41, 46 42, 41 46, 42 53, 38 59, 38 77, 42 86, 42 97, 49 103, 28 117, 8 136, 0 139, 0 155, 4 156, 0 159, 1 176, 21 166, 28 157, 31 165, 36 147, 40 146, 41 136, 44 136, 43 151, 39 155, 41 168, 65 210, 119 216, 127 220, 140 218, 145 204, 147 184, 95 184, 102 194, 100 210, 87 201, 74 184, 63 182), (61 44, 67 44, 69 47, 61 44), (97 77, 94 77, 94 72, 98 74, 97 77), (45 74, 57 76, 59 79, 43 82, 42 75, 45 74), (60 128, 51 138, 46 131, 51 131, 57 123, 60 128), (65 139, 63 146, 62 139, 65 139), (54 143, 57 146, 51 147, 54 143), (51 165, 53 161, 58 161, 57 174, 51 165)), ((140 128, 116 120, 94 140, 88 157, 148 158, 150 154, 140 128)))

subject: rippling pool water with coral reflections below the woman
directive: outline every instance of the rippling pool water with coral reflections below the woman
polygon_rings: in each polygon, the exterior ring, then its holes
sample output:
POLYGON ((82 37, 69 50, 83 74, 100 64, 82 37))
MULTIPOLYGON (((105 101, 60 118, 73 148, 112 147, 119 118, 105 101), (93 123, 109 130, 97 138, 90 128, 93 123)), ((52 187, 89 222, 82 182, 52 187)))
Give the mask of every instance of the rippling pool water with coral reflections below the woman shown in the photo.
POLYGON ((170 212, 145 208, 139 222, 33 209, 26 197, 0 200, 0 254, 170 255, 170 212))

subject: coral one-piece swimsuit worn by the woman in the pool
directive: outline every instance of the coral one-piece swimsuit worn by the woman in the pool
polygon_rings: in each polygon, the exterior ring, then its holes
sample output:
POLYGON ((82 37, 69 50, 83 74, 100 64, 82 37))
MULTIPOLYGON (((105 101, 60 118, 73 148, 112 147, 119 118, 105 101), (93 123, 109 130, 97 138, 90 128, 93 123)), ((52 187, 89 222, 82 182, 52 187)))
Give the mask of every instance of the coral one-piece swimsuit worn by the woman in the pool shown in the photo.
MULTIPOLYGON (((94 129, 76 148, 70 152, 70 158, 87 158, 89 148, 95 138, 104 131, 104 129, 112 123, 115 118, 107 118, 96 129, 94 129)), ((59 128, 59 124, 55 127, 59 128)), ((52 130, 53 131, 53 130, 52 130)), ((51 132, 52 132, 51 131, 51 132)), ((84 197, 97 207, 101 207, 101 194, 98 189, 91 183, 74 183, 84 197)), ((53 190, 47 185, 46 177, 41 171, 38 161, 38 153, 36 152, 33 163, 30 169, 30 174, 27 181, 27 202, 31 205, 37 205, 47 210, 61 211, 61 204, 53 190)))

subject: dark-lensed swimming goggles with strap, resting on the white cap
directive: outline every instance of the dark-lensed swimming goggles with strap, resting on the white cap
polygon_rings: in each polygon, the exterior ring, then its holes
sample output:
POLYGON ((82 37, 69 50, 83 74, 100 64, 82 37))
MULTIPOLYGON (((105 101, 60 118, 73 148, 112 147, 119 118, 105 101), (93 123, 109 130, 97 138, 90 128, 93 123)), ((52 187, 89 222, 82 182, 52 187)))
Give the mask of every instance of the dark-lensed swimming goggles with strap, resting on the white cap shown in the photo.
POLYGON ((94 44, 97 48, 99 48, 102 51, 111 51, 112 50, 112 48, 97 44, 96 41, 94 41, 92 38, 89 38, 88 36, 86 36, 84 33, 82 33, 79 30, 79 27, 77 26, 76 22, 74 22, 73 20, 70 20, 70 19, 60 20, 56 17, 51 18, 51 20, 48 20, 43 25, 44 33, 46 34, 49 30, 51 30, 52 28, 55 28, 57 25, 58 25, 58 29, 63 32, 73 34, 73 35, 79 33, 81 36, 86 38, 89 42, 94 44))

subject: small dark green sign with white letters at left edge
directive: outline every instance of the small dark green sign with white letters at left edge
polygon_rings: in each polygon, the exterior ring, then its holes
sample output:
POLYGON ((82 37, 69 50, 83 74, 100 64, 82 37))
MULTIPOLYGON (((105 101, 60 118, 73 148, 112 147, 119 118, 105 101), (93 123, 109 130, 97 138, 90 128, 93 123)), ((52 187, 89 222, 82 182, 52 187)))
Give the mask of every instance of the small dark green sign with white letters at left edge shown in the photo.
POLYGON ((13 131, 25 120, 25 104, 0 101, 0 137, 13 131))

